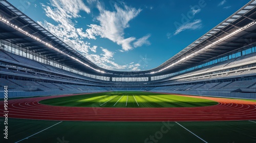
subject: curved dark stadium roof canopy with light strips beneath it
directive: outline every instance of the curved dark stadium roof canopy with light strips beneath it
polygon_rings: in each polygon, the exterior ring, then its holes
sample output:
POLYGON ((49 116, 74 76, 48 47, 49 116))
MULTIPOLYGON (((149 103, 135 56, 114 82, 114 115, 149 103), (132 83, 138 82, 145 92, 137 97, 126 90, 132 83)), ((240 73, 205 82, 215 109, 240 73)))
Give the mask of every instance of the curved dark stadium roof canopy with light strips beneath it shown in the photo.
POLYGON ((158 67, 144 71, 115 71, 97 66, 7 1, 0 1, 0 13, 0 39, 86 73, 110 77, 175 73, 243 50, 256 42, 256 1, 250 1, 158 67))

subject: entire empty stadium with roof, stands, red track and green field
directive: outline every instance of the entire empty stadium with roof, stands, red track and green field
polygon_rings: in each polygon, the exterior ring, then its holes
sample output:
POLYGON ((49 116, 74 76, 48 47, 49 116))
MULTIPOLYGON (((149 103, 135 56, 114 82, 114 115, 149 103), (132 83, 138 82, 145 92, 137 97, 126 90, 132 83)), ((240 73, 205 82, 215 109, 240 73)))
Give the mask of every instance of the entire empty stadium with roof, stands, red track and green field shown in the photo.
POLYGON ((161 65, 120 71, 0 1, 1 142, 256 142, 255 20, 253 0, 161 65))

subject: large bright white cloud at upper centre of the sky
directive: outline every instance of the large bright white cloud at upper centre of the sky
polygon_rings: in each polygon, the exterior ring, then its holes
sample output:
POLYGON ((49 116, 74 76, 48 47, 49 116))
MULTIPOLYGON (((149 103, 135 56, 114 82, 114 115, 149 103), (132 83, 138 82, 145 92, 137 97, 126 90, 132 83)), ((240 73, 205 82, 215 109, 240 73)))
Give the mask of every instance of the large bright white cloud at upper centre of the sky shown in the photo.
POLYGON ((109 11, 105 10, 103 6, 98 3, 97 8, 100 14, 96 19, 100 24, 89 25, 90 29, 86 30, 89 38, 96 39, 95 36, 100 36, 101 38, 108 38, 118 45, 121 45, 123 51, 133 49, 131 42, 136 40, 136 38, 124 38, 124 29, 130 27, 129 21, 135 18, 141 12, 141 9, 131 8, 126 5, 123 7, 122 9, 115 5, 116 11, 109 11))

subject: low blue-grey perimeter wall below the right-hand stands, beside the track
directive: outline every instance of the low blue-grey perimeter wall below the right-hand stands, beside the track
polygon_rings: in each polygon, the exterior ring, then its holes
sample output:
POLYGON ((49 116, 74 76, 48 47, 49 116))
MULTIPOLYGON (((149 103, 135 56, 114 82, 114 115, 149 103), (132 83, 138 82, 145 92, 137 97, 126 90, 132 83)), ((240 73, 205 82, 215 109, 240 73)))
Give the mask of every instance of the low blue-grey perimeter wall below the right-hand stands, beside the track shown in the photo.
POLYGON ((256 93, 236 93, 236 92, 207 92, 207 91, 168 91, 168 90, 152 90, 153 92, 179 93, 197 96, 213 96, 226 98, 244 98, 256 99, 256 93))

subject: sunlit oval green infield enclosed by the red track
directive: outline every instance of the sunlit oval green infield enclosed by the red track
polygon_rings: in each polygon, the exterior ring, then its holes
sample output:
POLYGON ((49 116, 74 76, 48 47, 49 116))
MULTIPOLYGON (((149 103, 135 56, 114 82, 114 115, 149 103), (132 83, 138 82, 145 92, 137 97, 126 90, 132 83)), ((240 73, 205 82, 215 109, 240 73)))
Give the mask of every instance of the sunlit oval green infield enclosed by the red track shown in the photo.
POLYGON ((92 93, 47 99, 39 103, 71 107, 200 107, 218 104, 206 99, 139 91, 92 93))

